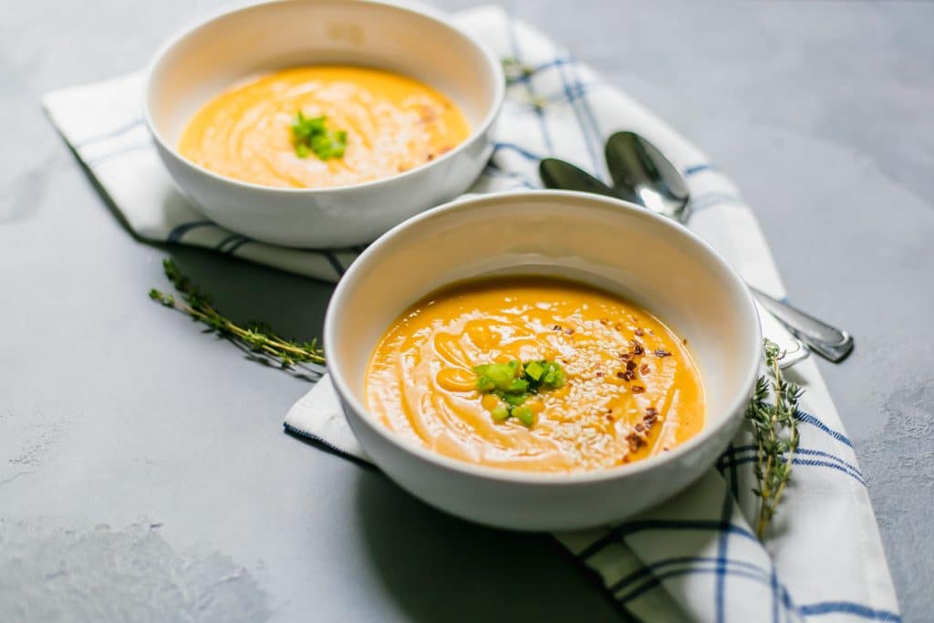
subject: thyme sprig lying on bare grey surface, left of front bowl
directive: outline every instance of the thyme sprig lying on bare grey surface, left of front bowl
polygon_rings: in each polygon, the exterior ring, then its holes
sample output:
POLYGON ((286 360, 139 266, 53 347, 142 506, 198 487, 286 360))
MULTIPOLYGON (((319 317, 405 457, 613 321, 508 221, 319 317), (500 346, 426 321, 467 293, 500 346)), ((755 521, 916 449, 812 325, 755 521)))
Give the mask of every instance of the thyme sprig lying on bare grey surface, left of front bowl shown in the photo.
POLYGON ((275 361, 280 367, 291 370, 300 363, 325 362, 324 351, 318 347, 318 341, 298 342, 276 334, 269 325, 250 322, 241 326, 226 318, 211 303, 211 297, 205 294, 191 278, 178 268, 176 262, 163 260, 165 276, 177 290, 181 302, 173 294, 161 290, 149 290, 149 298, 175 309, 191 319, 204 324, 209 333, 231 340, 234 345, 246 347, 249 351, 275 361))

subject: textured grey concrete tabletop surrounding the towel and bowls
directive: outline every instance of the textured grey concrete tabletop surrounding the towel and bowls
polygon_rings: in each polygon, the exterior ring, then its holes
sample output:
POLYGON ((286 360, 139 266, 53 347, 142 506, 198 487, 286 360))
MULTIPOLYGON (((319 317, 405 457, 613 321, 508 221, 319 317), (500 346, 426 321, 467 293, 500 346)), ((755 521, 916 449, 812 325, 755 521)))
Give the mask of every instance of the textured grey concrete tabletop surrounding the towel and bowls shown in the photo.
MULTIPOLYGON (((40 112, 213 4, 0 4, 0 620, 616 620, 545 537, 444 517, 284 435, 304 381, 146 298, 166 253, 288 333, 318 334, 330 292, 134 241, 40 112)), ((792 300, 856 334, 822 368, 905 618, 929 620, 934 4, 507 4, 707 149, 792 300)))

